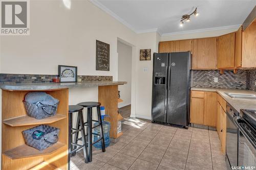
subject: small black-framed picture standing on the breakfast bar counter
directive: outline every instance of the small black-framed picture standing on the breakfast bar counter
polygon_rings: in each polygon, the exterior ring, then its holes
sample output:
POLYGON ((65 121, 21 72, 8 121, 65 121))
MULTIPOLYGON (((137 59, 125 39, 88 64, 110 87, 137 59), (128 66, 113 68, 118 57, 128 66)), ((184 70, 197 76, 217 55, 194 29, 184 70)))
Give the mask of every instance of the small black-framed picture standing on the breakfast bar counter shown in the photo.
POLYGON ((60 83, 66 82, 77 82, 77 67, 68 65, 58 66, 58 75, 60 78, 60 83))

